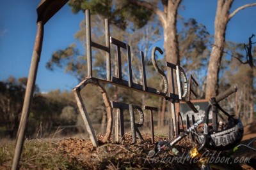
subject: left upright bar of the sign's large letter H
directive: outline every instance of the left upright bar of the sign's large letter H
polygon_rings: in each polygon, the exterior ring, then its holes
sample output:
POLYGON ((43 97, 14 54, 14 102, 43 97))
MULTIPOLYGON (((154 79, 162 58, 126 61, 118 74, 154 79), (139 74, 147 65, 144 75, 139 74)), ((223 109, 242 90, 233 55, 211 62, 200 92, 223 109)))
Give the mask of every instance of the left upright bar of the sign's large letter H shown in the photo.
POLYGON ((92 38, 91 38, 91 17, 90 10, 86 10, 86 53, 87 53, 87 77, 92 77, 92 38))

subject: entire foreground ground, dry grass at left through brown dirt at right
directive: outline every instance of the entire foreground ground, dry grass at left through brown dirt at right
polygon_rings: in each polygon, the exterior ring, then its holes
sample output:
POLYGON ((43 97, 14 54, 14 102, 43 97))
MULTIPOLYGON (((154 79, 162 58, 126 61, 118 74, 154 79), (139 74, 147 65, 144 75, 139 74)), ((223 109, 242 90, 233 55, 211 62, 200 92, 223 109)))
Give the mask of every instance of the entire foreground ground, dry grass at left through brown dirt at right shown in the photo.
MULTIPOLYGON (((142 133, 144 141, 132 144, 131 133, 125 134, 124 143, 102 142, 103 135, 98 136, 99 147, 94 147, 90 139, 77 138, 27 139, 20 160, 22 169, 200 169, 198 159, 188 159, 189 150, 196 145, 190 139, 182 139, 175 148, 183 153, 177 157, 169 148, 152 159, 148 153, 154 149, 151 135, 142 133)), ((246 145, 256 138, 256 122, 244 127, 244 137, 239 145, 246 145)), ((168 136, 158 133, 155 142, 166 141, 168 136)), ((256 148, 256 140, 250 145, 256 148)), ((12 166, 14 143, 0 145, 0 169, 12 166)), ((227 152, 205 149, 202 157, 209 157, 215 169, 253 169, 256 166, 256 152, 241 146, 231 156, 227 152), (250 160, 250 161, 249 161, 250 160), (250 163, 253 163, 251 165, 250 163)), ((213 169, 213 168, 212 168, 213 169)), ((255 168, 256 169, 256 168, 255 168)))

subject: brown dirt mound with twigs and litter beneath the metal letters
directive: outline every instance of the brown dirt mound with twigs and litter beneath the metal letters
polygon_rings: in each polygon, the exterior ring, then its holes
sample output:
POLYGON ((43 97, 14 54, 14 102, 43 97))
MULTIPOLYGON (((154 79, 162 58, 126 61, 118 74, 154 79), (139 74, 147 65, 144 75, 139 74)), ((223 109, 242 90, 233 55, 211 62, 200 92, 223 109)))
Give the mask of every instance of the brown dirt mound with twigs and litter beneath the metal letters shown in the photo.
MULTIPOLYGON (((247 144, 256 137, 256 122, 244 127, 244 137, 241 144, 247 144)), ((99 136, 101 141, 102 136, 99 136)), ((143 134, 144 141, 131 144, 131 134, 125 134, 124 143, 100 142, 95 148, 88 139, 67 138, 58 142, 58 151, 68 154, 77 159, 84 169, 198 169, 198 162, 179 160, 169 149, 161 152, 154 159, 148 159, 147 155, 154 148, 151 144, 150 134, 143 134), (176 159, 175 159, 176 158, 176 159)), ((157 136, 155 141, 165 141, 166 136, 157 136)), ((256 141, 252 143, 256 148, 256 141)), ((177 144, 177 149, 188 153, 193 148, 189 139, 184 139, 177 144)), ((225 152, 209 152, 215 160, 219 158, 228 159, 225 152)), ((244 164, 248 159, 256 159, 256 152, 246 147, 239 149, 232 155, 231 162, 218 163, 218 169, 253 169, 244 164), (237 160, 235 162, 234 160, 237 160)), ((217 161, 218 162, 218 161, 217 161)), ((219 161, 220 162, 220 161, 219 161)))

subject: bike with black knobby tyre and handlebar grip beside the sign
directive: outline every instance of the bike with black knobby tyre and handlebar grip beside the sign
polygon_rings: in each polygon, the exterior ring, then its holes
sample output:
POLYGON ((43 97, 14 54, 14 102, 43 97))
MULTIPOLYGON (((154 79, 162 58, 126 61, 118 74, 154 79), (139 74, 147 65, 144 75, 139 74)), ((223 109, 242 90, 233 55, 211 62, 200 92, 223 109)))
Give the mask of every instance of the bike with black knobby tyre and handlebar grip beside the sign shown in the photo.
POLYGON ((209 167, 208 157, 202 157, 202 150, 204 148, 208 148, 210 150, 230 150, 233 149, 235 152, 239 147, 246 146, 251 150, 256 151, 253 148, 251 143, 255 141, 253 139, 248 145, 238 145, 241 139, 243 138, 243 124, 241 120, 234 118, 234 116, 228 114, 221 106, 218 104, 225 97, 237 91, 236 85, 230 87, 230 89, 223 92, 216 97, 211 97, 209 101, 209 107, 206 111, 205 117, 201 118, 195 124, 188 127, 186 131, 177 136, 177 138, 171 141, 159 141, 156 143, 154 150, 151 150, 148 153, 148 157, 156 157, 156 155, 161 152, 164 148, 170 148, 175 155, 178 157, 182 157, 182 153, 175 148, 175 144, 177 144, 181 139, 185 138, 189 134, 193 133, 195 136, 198 146, 191 148, 189 151, 189 157, 191 159, 199 159, 199 165, 202 169, 207 169, 209 167), (212 110, 212 123, 209 124, 209 112, 212 110), (219 110, 222 111, 223 115, 219 113, 219 110), (225 118, 225 117, 227 118, 225 118), (221 119, 220 121, 218 119, 221 119), (195 129, 204 124, 204 130, 202 132, 196 132, 195 129))

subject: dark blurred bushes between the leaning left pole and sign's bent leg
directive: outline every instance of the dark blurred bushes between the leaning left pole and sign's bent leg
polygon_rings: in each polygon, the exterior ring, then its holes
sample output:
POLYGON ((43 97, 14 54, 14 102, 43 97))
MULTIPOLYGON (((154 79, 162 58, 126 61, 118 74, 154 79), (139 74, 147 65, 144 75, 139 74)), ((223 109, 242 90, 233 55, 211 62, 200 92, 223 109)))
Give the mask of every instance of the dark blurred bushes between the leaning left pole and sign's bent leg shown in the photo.
POLYGON ((71 92, 54 90, 47 94, 36 94, 29 117, 31 124, 28 129, 31 131, 28 132, 30 135, 35 134, 41 126, 40 131, 44 136, 49 136, 60 125, 76 124, 77 112, 74 94, 71 92))

